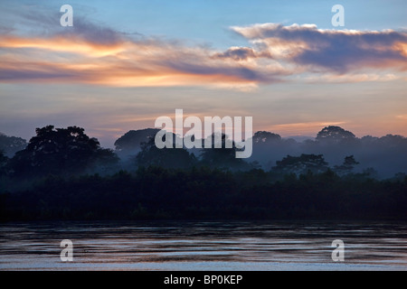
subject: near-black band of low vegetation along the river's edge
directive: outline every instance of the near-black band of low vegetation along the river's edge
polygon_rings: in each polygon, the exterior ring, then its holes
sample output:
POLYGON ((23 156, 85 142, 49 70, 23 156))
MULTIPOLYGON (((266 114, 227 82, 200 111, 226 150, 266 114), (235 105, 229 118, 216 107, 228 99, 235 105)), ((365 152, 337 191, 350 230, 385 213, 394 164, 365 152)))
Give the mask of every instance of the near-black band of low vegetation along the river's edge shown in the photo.
POLYGON ((0 193, 0 220, 407 219, 407 178, 333 172, 264 178, 264 172, 147 168, 137 174, 50 176, 0 193))

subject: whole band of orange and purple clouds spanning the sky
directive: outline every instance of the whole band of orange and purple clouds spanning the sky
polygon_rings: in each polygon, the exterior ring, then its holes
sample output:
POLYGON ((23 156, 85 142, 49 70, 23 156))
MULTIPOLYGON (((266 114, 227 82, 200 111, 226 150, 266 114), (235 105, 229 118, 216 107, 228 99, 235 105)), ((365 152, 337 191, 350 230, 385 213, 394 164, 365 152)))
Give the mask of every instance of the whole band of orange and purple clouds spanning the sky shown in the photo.
MULTIPOLYGON (((38 22, 48 27, 51 21, 50 16, 25 16, 22 23, 30 25, 38 22)), ((52 31, 36 35, 2 27, 0 82, 252 90, 260 84, 298 79, 401 79, 400 73, 407 70, 404 32, 331 31, 312 24, 254 24, 232 27, 251 47, 232 46, 220 51, 121 33, 80 16, 75 17, 73 27, 52 25, 52 31), (364 71, 371 68, 392 71, 382 71, 381 75, 364 71)))

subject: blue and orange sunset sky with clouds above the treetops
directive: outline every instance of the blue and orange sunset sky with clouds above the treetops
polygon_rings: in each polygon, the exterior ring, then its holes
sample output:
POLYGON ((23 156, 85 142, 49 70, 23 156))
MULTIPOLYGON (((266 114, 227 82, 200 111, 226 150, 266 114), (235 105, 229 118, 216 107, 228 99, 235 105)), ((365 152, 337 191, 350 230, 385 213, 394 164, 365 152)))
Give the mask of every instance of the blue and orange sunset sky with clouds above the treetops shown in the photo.
POLYGON ((113 147, 184 109, 253 117, 254 132, 281 136, 329 125, 407 136, 405 11, 394 0, 2 0, 0 132, 81 126, 113 147))

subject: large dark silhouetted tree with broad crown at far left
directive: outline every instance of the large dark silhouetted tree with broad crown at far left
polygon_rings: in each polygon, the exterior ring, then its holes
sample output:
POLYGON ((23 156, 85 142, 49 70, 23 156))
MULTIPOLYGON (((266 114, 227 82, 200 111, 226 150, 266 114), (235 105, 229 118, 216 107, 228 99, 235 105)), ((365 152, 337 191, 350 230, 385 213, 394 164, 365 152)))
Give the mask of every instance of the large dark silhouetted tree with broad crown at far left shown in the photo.
POLYGON ((96 164, 118 162, 112 150, 101 148, 83 128, 44 126, 36 128, 35 133, 27 147, 10 161, 14 175, 78 174, 96 164))

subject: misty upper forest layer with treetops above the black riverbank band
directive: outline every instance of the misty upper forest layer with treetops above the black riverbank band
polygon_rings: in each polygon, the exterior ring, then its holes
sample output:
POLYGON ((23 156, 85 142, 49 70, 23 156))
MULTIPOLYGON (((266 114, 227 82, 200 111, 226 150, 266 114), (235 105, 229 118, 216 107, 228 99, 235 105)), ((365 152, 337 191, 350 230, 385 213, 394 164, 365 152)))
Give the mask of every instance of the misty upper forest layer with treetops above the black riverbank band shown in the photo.
MULTIPOLYGON (((376 179, 400 178, 407 172, 407 138, 402 135, 358 138, 342 127, 327 126, 315 139, 298 142, 259 131, 252 136, 251 157, 236 159, 235 145, 225 148, 226 142, 232 142, 227 135, 222 135, 221 149, 158 149, 154 143, 158 131, 130 130, 116 140, 115 150, 102 148, 96 138, 77 126, 37 128, 29 142, 1 134, 1 172, 11 178, 32 178, 46 174, 135 171, 139 166, 149 165, 178 169, 208 166, 232 171, 261 169, 297 175, 308 170, 331 169, 338 174, 363 173, 376 179)), ((178 136, 173 137, 175 143, 178 136)))

